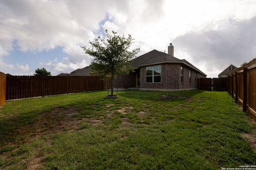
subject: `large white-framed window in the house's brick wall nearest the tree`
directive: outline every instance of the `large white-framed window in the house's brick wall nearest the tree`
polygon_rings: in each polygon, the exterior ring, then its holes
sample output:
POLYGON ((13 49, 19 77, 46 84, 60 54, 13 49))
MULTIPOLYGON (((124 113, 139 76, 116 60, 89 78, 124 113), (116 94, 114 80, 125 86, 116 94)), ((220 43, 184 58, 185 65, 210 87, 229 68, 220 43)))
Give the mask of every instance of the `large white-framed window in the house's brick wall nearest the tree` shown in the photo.
POLYGON ((146 67, 146 82, 147 83, 161 82, 161 65, 146 67))

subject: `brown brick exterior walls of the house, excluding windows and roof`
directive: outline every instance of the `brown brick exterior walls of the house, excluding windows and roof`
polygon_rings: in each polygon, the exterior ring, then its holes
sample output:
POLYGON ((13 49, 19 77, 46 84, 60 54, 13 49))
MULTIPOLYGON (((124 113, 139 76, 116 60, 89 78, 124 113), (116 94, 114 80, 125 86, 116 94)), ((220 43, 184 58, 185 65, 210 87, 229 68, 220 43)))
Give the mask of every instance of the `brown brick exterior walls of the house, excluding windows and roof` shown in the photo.
MULTIPOLYGON (((159 65, 159 64, 157 64, 159 65)), ((153 65, 150 65, 153 66, 153 65)), ((183 65, 183 82, 181 83, 181 65, 180 64, 161 64, 161 82, 146 82, 146 66, 140 67, 140 89, 143 90, 178 90, 197 88, 196 72, 191 70, 191 83, 189 82, 189 67, 183 65)), ((197 78, 205 78, 205 75, 197 72, 197 78)), ((107 87, 107 85, 105 85, 107 87)), ((114 80, 114 88, 135 88, 136 73, 118 76, 114 80)), ((110 88, 110 84, 109 84, 110 88)))

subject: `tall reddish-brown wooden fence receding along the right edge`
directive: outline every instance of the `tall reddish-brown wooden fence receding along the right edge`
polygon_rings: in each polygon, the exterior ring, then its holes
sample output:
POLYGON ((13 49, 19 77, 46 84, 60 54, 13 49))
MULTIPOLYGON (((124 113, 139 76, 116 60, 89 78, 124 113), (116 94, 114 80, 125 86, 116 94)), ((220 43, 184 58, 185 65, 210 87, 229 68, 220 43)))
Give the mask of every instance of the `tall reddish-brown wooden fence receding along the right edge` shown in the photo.
POLYGON ((231 72, 228 92, 256 121, 256 59, 231 72))

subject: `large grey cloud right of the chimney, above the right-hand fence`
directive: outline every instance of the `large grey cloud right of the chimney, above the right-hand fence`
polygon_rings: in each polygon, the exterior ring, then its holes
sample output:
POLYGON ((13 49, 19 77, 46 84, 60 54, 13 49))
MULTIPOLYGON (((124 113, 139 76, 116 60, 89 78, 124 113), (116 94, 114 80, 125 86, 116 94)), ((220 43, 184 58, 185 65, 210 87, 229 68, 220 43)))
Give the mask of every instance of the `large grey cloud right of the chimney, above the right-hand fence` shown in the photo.
MULTIPOLYGON (((188 32, 174 39, 175 47, 186 51, 193 63, 205 62, 205 72, 223 70, 229 64, 248 62, 256 55, 256 17, 221 22, 217 30, 188 32)), ((217 76, 215 73, 214 76, 217 76)))

